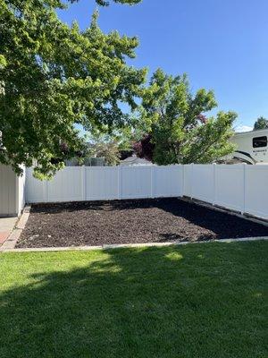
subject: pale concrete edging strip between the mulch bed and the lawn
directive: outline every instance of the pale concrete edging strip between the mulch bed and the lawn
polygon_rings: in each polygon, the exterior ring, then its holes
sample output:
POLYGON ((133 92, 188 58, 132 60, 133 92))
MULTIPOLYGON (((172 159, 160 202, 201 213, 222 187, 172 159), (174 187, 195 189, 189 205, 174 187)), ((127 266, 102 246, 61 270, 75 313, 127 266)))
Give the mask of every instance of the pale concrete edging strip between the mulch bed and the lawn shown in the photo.
MULTIPOLYGON (((21 230, 21 229, 20 229, 21 230)), ((22 231, 22 230, 21 230, 22 231)), ((268 240, 268 236, 256 237, 242 237, 238 239, 221 239, 221 240, 205 240, 196 242, 168 242, 168 243, 121 243, 121 244, 105 244, 100 246, 66 246, 66 247, 38 247, 38 248, 0 248, 3 252, 46 252, 46 251, 96 251, 96 250, 113 250, 113 249, 127 249, 127 248, 143 248, 143 247, 161 247, 161 246, 180 246, 193 243, 240 243, 240 242, 255 242, 268 240)))

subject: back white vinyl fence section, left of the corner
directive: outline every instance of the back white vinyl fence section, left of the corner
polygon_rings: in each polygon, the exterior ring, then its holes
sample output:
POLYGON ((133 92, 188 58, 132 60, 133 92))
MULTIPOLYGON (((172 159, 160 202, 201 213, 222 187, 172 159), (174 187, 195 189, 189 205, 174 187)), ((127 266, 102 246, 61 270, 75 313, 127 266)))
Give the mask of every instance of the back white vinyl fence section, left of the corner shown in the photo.
POLYGON ((183 166, 66 166, 51 181, 27 171, 31 202, 114 200, 182 195, 183 166))

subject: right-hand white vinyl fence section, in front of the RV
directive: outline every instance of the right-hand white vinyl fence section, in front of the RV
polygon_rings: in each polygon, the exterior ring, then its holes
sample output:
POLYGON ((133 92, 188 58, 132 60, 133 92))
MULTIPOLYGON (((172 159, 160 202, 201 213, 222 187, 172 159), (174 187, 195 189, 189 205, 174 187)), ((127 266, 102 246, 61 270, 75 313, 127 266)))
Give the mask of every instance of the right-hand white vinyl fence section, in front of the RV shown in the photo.
POLYGON ((183 193, 268 219, 268 165, 186 165, 183 193))

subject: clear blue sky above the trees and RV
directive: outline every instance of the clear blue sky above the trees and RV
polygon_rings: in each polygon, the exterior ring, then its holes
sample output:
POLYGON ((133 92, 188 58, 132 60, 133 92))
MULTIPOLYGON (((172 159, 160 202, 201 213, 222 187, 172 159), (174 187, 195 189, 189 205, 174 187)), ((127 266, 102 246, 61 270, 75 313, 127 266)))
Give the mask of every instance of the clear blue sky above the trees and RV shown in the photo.
MULTIPOLYGON (((85 29, 95 8, 94 0, 80 0, 59 15, 85 29)), ((143 0, 99 13, 105 32, 138 36, 130 64, 146 66, 150 74, 158 67, 188 73, 193 91, 212 89, 219 110, 238 113, 238 129, 260 115, 268 118, 267 0, 143 0)))

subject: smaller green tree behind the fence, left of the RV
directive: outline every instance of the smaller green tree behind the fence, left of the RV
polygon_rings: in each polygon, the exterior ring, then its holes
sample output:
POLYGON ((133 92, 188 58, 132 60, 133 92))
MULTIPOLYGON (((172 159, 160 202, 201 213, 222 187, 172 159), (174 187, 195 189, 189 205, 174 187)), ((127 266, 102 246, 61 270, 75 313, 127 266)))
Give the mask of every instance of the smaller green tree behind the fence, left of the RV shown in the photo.
POLYGON ((210 163, 229 154, 236 114, 219 112, 207 118, 204 114, 216 106, 213 91, 201 89, 193 95, 186 75, 172 77, 157 70, 143 94, 138 116, 138 126, 150 134, 153 161, 159 165, 210 163))

